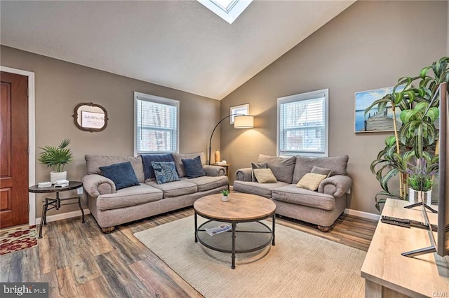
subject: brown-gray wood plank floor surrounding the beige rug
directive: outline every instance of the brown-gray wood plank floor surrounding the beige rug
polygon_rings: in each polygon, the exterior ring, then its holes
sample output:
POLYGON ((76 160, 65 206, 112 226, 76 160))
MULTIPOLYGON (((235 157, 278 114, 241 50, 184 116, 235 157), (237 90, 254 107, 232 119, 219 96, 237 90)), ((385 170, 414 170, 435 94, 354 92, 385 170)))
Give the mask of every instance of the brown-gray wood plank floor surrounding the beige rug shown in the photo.
MULTIPOLYGON (((1 255, 0 282, 48 282, 50 297, 202 297, 133 236, 193 214, 185 208, 111 234, 102 234, 92 215, 84 224, 81 218, 50 222, 37 247, 1 255)), ((287 218, 276 218, 276 224, 368 250, 377 222, 341 215, 328 233, 287 218)))

